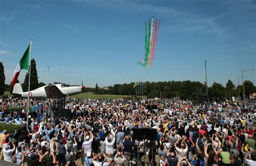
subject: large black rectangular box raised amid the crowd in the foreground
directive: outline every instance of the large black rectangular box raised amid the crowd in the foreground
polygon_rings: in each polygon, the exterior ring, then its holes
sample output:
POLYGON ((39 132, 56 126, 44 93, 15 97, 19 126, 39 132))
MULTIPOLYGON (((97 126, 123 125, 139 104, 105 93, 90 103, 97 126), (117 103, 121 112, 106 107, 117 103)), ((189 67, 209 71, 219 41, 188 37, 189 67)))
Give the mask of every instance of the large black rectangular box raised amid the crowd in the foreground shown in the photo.
POLYGON ((157 129, 153 128, 133 128, 133 139, 134 140, 157 140, 157 129))

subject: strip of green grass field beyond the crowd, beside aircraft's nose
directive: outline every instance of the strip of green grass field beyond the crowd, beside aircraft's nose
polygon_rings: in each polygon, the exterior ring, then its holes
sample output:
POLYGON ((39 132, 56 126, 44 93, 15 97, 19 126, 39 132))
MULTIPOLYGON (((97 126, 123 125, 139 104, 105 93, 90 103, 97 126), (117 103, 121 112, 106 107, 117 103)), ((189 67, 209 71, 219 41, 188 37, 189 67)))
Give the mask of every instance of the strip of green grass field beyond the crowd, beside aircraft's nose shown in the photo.
POLYGON ((120 99, 120 98, 131 98, 127 95, 111 95, 111 94, 92 94, 92 93, 80 93, 76 95, 69 96, 70 98, 81 98, 81 99, 120 99))

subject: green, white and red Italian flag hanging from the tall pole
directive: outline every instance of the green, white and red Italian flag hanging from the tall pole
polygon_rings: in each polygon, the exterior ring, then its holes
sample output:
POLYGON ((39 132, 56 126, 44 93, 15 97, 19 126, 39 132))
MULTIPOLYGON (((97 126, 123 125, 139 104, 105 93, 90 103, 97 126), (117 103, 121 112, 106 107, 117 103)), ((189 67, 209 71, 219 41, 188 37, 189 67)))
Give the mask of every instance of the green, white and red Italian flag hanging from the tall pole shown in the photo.
POLYGON ((14 86, 16 84, 16 81, 19 77, 19 73, 22 69, 28 70, 29 69, 29 47, 26 49, 25 53, 23 54, 21 60, 19 60, 19 63, 14 71, 14 77, 12 78, 11 86, 14 86))

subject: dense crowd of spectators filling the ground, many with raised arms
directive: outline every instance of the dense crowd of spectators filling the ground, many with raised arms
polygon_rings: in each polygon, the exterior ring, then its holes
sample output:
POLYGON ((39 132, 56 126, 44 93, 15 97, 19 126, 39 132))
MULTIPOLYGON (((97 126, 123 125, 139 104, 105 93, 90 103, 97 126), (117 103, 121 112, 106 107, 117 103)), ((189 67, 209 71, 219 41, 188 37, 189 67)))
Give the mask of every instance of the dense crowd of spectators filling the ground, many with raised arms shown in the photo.
POLYGON ((249 103, 68 99, 70 117, 51 117, 50 100, 32 100, 29 116, 25 106, 26 100, 0 102, 0 125, 24 126, 0 134, 5 161, 29 166, 256 165, 256 113, 249 103), (133 128, 155 129, 156 139, 135 140, 133 128))

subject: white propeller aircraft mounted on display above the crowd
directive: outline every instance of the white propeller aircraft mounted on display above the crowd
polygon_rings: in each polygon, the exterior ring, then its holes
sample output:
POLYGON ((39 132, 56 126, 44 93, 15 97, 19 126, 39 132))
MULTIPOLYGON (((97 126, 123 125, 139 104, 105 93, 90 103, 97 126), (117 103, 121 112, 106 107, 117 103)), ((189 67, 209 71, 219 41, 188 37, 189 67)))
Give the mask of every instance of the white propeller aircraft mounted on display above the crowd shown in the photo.
POLYGON ((21 84, 14 85, 12 95, 19 98, 63 98, 68 95, 82 93, 85 86, 64 86, 63 84, 46 85, 32 91, 23 92, 21 84))

